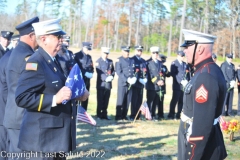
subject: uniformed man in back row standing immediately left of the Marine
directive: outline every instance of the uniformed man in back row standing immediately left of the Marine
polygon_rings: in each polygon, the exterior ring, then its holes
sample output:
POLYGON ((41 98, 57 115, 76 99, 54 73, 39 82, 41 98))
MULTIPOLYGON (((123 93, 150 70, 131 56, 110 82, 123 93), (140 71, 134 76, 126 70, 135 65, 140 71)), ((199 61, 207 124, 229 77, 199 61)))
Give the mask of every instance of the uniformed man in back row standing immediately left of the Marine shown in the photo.
POLYGON ((183 61, 184 59, 184 52, 178 51, 178 56, 175 61, 172 62, 170 72, 173 77, 173 84, 172 84, 172 99, 170 102, 170 108, 169 108, 169 119, 180 119, 180 114, 182 112, 183 107, 183 91, 185 89, 186 84, 188 83, 190 79, 190 73, 189 73, 189 67, 188 65, 183 61), (177 107, 177 113, 175 117, 175 108, 177 107))

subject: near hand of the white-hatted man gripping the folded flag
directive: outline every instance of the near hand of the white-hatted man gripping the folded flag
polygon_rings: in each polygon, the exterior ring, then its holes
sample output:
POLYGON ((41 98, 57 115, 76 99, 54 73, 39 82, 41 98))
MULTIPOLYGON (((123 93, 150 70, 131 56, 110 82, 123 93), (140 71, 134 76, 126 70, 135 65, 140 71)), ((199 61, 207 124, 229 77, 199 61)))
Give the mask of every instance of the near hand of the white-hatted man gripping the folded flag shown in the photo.
POLYGON ((72 91, 70 88, 64 86, 56 94, 56 103, 60 104, 63 100, 70 100, 72 97, 72 91))

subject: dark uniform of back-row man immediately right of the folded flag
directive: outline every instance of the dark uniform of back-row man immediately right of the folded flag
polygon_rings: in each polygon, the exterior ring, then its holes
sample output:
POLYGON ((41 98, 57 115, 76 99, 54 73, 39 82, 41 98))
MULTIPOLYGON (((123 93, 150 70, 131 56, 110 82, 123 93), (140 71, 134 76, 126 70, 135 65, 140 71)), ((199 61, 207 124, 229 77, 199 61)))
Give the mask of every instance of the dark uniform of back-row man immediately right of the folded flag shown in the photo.
MULTIPOLYGON (((90 89, 90 80, 88 77, 85 76, 86 72, 93 73, 93 61, 90 55, 85 54, 83 51, 77 52, 74 57, 75 61, 77 62, 79 68, 82 71, 83 80, 86 85, 86 89, 89 91, 90 89)), ((88 99, 86 101, 81 102, 81 106, 87 110, 88 107, 88 99)))

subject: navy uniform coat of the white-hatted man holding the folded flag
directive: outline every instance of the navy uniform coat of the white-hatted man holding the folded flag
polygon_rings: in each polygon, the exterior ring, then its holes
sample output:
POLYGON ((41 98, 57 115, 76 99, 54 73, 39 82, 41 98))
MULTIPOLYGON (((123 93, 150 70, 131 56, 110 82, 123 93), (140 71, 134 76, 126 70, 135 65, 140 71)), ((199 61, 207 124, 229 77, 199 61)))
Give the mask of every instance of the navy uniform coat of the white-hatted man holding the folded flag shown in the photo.
POLYGON ((76 107, 71 101, 52 107, 53 95, 65 81, 52 58, 39 47, 16 89, 16 103, 25 108, 18 142, 21 150, 46 154, 76 149, 76 107))

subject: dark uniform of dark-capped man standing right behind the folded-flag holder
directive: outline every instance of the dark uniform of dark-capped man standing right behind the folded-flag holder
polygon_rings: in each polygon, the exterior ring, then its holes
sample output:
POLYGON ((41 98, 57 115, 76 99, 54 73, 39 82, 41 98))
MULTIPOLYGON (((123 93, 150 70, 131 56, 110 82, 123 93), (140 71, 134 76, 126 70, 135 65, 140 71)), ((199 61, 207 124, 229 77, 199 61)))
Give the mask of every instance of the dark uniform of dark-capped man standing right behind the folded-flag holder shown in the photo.
POLYGON ((6 82, 8 95, 5 115, 8 116, 4 116, 3 125, 8 130, 9 152, 22 152, 17 145, 24 109, 19 108, 14 99, 19 76, 25 69, 26 59, 33 53, 33 49, 28 44, 20 41, 13 49, 7 64, 6 82))

